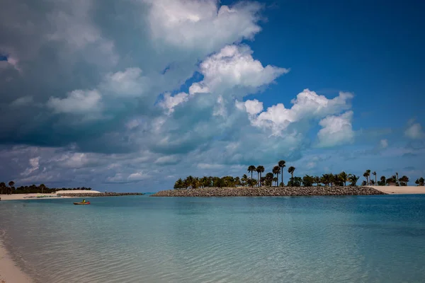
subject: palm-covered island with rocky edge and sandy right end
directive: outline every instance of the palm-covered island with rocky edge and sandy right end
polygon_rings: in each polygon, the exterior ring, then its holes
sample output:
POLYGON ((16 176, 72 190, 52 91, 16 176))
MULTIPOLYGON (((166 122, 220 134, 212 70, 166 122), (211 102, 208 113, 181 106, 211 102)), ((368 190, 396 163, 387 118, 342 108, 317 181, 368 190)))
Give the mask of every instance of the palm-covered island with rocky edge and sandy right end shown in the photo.
POLYGON ((406 175, 399 177, 396 172, 386 178, 369 169, 363 173, 365 180, 357 185, 360 175, 342 171, 341 173, 324 173, 318 175, 294 176, 295 167, 288 168, 290 178, 285 184, 283 168, 286 161, 278 161, 271 172, 265 172, 264 166, 248 166, 249 175, 242 178, 230 175, 223 177, 188 175, 179 178, 174 190, 162 190, 151 197, 277 197, 277 196, 312 196, 312 195, 388 195, 392 193, 424 193, 424 178, 415 181, 417 187, 409 187, 406 175), (256 176, 253 174, 256 173, 256 176), (280 178, 279 178, 280 177, 280 178), (374 178, 373 178, 374 177, 374 178))

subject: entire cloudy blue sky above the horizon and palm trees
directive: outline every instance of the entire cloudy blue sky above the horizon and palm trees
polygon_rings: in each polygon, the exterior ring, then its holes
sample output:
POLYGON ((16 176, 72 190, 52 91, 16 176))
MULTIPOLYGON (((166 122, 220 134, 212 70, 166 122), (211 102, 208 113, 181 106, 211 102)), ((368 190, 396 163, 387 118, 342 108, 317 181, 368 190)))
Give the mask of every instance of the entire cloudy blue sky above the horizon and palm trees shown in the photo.
POLYGON ((425 176, 424 1, 5 1, 1 181, 425 176))

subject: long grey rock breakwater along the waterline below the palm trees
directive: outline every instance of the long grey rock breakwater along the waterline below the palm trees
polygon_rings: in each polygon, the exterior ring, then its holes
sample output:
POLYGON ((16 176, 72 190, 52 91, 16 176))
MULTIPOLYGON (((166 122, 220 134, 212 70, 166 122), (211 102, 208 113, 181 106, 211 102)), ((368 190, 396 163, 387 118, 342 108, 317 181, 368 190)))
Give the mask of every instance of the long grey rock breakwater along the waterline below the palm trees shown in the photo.
POLYGON ((280 197, 314 195, 387 195, 371 187, 206 187, 162 190, 151 197, 280 197))

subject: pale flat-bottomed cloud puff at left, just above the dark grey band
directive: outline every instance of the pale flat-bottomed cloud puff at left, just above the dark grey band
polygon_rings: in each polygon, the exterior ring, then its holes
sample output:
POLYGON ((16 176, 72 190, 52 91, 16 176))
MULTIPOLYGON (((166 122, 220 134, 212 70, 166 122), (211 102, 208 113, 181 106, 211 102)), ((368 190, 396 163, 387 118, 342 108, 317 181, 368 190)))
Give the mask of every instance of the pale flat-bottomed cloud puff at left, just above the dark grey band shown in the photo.
POLYGON ((67 98, 50 97, 47 106, 58 113, 84 114, 97 112, 101 108, 101 93, 97 90, 76 90, 68 93, 67 98))

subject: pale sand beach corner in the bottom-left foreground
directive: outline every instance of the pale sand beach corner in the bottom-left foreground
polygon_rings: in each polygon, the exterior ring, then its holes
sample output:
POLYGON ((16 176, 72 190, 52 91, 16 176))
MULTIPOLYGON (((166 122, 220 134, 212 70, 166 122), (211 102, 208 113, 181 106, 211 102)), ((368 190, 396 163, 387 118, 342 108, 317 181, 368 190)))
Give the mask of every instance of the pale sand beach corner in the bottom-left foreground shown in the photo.
POLYGON ((6 248, 0 241, 0 282, 30 283, 32 280, 15 265, 6 248), (2 281, 3 280, 3 281, 2 281))

